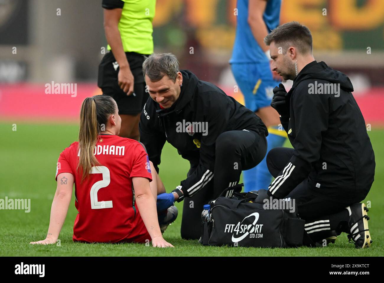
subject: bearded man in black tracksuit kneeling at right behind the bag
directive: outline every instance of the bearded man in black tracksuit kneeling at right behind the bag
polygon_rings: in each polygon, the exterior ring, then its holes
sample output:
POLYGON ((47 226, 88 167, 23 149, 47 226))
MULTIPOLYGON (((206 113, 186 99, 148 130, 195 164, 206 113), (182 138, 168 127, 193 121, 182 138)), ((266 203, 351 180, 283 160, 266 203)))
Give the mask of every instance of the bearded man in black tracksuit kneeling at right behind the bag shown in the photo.
POLYGON ((346 232, 356 248, 365 248, 371 244, 369 218, 360 202, 374 181, 375 159, 351 81, 314 60, 311 33, 297 22, 277 27, 264 41, 272 68, 293 80, 288 93, 283 84, 273 90, 271 106, 293 149, 268 153, 275 180, 266 195, 295 199, 313 241, 346 232))

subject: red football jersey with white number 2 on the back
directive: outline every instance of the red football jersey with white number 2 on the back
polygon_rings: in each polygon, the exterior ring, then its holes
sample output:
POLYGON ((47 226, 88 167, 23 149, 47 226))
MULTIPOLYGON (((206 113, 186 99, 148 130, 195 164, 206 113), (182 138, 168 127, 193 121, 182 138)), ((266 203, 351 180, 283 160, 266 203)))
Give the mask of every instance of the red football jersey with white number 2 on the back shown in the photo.
MULTIPOLYGON (((152 181, 151 167, 144 146, 133 139, 100 135, 94 154, 100 166, 92 167, 81 182, 78 142, 61 152, 57 175, 74 176, 75 206, 78 214, 73 226, 73 241, 143 243, 151 241, 137 209, 132 177, 152 181)), ((58 180, 66 182, 66 180, 58 180)))

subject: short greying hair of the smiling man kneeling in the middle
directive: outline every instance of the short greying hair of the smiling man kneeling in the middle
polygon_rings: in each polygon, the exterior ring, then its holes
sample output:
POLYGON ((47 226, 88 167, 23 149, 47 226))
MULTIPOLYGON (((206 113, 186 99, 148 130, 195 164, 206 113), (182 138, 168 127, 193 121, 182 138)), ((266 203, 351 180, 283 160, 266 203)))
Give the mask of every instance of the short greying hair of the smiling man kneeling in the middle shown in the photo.
POLYGON ((147 75, 152 82, 161 80, 167 75, 173 82, 176 81, 179 72, 179 61, 171 53, 151 54, 145 57, 143 62, 144 78, 147 75))

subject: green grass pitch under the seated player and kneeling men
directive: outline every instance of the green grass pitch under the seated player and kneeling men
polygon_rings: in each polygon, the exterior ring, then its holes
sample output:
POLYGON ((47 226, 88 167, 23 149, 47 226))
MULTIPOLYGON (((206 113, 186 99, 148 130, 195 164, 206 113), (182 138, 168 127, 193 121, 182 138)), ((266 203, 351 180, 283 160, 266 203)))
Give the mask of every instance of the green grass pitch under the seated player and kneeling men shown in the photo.
MULTIPOLYGON (((47 233, 50 208, 56 189, 56 162, 61 151, 77 139, 74 124, 0 123, 0 198, 31 199, 31 211, 0 210, 0 256, 383 256, 384 255, 384 130, 368 132, 376 156, 375 181, 365 201, 371 201, 369 228, 371 248, 356 250, 341 234, 335 244, 323 248, 241 248, 205 247, 197 241, 180 238, 179 217, 164 233, 175 248, 152 248, 144 244, 83 244, 73 243, 73 221, 76 216, 74 197, 60 233, 60 246, 30 245, 44 239, 47 233)), ((286 144, 288 146, 288 143, 286 144)), ((189 162, 176 149, 166 144, 162 153, 160 177, 167 192, 185 178, 189 162)), ((200 208, 198 208, 200 209, 200 208)))

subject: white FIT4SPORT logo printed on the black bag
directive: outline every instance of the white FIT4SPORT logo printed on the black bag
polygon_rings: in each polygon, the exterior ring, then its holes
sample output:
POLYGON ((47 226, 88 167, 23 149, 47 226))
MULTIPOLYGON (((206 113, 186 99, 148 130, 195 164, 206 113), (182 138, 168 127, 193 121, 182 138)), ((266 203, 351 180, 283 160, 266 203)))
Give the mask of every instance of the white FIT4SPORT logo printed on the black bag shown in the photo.
POLYGON ((251 213, 237 224, 225 224, 224 233, 233 233, 233 243, 240 242, 248 235, 249 238, 263 238, 263 234, 261 232, 264 224, 256 224, 258 219, 259 213, 251 213))

